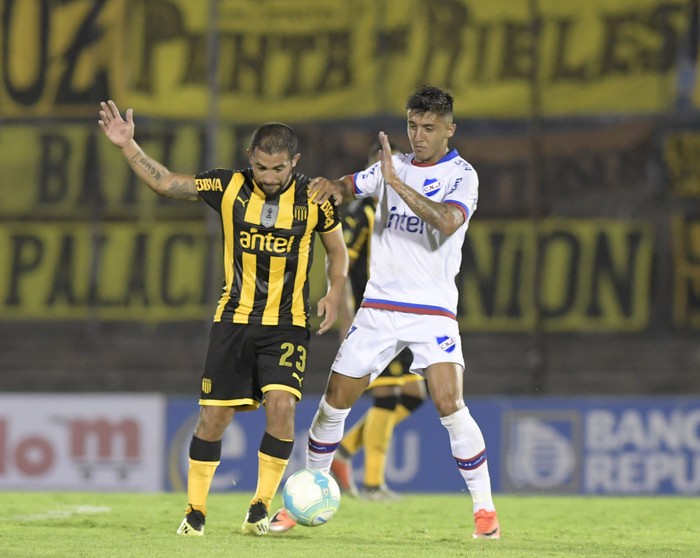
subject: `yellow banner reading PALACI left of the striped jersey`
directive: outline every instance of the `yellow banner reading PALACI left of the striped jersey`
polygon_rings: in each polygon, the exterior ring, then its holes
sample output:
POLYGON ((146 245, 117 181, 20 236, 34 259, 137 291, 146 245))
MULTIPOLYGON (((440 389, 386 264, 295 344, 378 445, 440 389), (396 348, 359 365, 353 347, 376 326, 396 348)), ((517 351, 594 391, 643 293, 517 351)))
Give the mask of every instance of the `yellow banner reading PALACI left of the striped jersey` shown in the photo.
POLYGON ((203 222, 2 224, 0 313, 4 319, 205 319, 214 311, 212 273, 223 277, 216 246, 203 222))

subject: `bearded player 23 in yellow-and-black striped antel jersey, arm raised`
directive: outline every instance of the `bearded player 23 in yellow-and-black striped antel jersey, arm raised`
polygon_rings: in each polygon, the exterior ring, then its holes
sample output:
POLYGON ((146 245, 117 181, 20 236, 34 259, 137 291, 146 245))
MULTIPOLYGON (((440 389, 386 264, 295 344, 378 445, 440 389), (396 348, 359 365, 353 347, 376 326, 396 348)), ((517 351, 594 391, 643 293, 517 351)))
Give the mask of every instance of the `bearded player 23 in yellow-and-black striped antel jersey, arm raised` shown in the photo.
POLYGON ((196 175, 171 172, 134 140, 133 111, 124 120, 102 102, 99 126, 129 166, 162 196, 203 200, 221 217, 225 281, 204 363, 200 411, 189 449, 188 505, 177 533, 203 535, 207 497, 221 459, 221 440, 236 412, 265 409, 258 482, 242 525, 268 532, 269 509, 294 444, 294 414, 302 397, 309 348, 309 270, 314 233, 326 250, 328 291, 319 300, 318 335, 337 317, 347 274, 340 218, 330 203, 308 198, 309 179, 295 167, 297 136, 286 124, 257 128, 244 170, 196 175))

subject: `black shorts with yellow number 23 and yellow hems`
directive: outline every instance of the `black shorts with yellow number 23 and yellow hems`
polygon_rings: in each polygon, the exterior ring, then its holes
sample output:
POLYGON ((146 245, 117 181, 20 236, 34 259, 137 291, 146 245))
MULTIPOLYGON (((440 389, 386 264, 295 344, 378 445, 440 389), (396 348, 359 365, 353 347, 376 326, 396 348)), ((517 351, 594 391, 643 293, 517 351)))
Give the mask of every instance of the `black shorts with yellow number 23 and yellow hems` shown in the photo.
POLYGON ((300 400, 308 352, 309 330, 303 327, 214 322, 199 404, 250 411, 270 390, 300 400))

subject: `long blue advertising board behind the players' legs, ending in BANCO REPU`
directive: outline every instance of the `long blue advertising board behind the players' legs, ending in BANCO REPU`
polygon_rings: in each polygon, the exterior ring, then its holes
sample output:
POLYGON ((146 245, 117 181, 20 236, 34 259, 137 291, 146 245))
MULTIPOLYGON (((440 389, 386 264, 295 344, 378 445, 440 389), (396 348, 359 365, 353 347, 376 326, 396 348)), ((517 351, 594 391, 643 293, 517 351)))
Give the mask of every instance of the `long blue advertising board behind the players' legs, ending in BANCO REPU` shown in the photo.
MULTIPOLYGON (((318 401, 318 396, 307 396, 297 407, 287 475, 304 467, 307 431, 318 401)), ((347 428, 370 403, 368 397, 358 401, 347 428)), ((467 403, 486 439, 495 492, 700 494, 700 399, 522 397, 467 403)), ((169 399, 167 490, 185 488, 197 412, 191 399, 169 399)), ((223 440, 213 491, 255 490, 264 425, 262 409, 236 415, 223 440)), ((360 453, 354 460, 358 482, 362 461, 360 453)), ((386 477, 399 492, 466 490, 447 431, 430 402, 397 426, 386 477)))

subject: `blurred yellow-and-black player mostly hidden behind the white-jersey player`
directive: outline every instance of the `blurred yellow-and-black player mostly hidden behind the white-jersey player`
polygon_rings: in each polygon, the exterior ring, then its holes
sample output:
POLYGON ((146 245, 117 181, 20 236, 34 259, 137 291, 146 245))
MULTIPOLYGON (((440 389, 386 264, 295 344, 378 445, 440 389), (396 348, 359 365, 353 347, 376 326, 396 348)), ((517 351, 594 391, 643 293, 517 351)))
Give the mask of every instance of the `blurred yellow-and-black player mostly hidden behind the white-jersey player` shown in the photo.
MULTIPOLYGON (((390 144, 391 152, 401 151, 390 144)), ((367 166, 381 160, 379 141, 369 149, 367 166)), ((350 268, 345 285, 346 296, 338 309, 340 340, 347 335, 352 319, 360 308, 369 275, 369 252, 376 199, 359 198, 344 207, 343 236, 348 247, 350 268)), ((345 434, 331 465, 331 472, 340 488, 352 495, 373 501, 396 500, 398 494, 386 484, 386 462, 394 428, 409 417, 425 401, 425 379, 410 372, 413 357, 404 349, 374 380, 368 389, 372 406, 345 434), (352 471, 352 458, 364 450, 364 482, 358 491, 352 471)))

